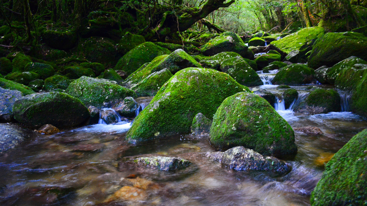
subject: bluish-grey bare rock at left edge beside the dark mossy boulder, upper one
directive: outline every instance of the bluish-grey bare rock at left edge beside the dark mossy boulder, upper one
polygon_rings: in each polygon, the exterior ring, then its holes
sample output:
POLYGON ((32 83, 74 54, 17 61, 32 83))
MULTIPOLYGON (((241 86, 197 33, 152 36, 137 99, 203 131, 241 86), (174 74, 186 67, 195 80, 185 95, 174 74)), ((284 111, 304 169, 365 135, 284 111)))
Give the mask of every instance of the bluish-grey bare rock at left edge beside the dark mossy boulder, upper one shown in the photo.
POLYGON ((14 121, 13 105, 21 98, 21 92, 0 87, 0 94, 0 122, 14 121))

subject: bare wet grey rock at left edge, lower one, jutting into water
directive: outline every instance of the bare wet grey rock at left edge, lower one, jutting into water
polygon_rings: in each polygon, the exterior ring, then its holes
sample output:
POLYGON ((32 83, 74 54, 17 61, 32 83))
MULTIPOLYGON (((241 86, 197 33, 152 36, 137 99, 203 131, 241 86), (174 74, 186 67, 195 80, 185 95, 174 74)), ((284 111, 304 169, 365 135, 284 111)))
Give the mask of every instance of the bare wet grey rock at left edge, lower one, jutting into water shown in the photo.
POLYGON ((32 137, 32 131, 18 124, 0 123, 0 153, 12 149, 27 138, 32 137))

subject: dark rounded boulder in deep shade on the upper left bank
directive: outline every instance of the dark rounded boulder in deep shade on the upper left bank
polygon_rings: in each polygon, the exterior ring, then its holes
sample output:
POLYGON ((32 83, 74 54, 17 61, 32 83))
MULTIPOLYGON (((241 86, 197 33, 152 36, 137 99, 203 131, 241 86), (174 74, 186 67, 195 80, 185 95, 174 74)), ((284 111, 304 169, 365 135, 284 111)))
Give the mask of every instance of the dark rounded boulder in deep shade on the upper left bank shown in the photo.
POLYGON ((44 30, 42 40, 52 48, 68 50, 76 46, 78 35, 74 31, 44 30))

